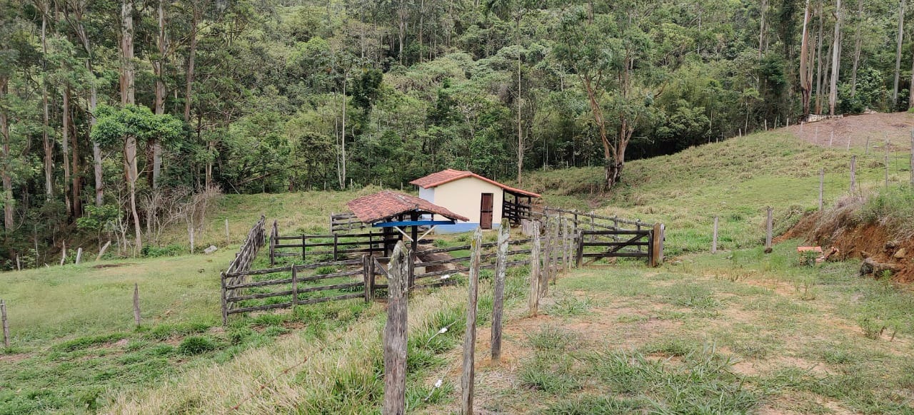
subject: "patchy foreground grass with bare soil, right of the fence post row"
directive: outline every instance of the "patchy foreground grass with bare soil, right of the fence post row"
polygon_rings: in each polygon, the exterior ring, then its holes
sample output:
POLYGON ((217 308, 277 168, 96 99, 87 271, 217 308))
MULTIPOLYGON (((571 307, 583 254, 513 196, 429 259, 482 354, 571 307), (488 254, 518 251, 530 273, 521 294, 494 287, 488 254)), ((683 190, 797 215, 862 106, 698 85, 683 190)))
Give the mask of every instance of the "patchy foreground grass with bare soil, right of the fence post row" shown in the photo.
MULTIPOLYGON (((914 297, 793 247, 581 269, 546 316, 477 343, 476 405, 494 413, 912 413, 914 297)), ((453 359, 459 359, 457 353, 453 359)), ((427 380, 459 378, 441 371, 427 380)), ((459 410, 459 395, 425 413, 459 410)))

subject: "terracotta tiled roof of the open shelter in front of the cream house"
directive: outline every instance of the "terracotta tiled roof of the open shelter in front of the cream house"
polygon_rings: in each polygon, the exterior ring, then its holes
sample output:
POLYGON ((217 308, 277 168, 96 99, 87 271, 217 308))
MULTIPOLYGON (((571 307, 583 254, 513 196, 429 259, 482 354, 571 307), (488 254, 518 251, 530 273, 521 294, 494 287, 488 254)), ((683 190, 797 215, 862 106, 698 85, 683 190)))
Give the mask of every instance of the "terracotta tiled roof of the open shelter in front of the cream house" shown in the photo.
POLYGON ((377 223, 400 213, 419 211, 440 214, 448 219, 469 222, 470 219, 453 213, 437 204, 399 192, 377 192, 346 203, 362 223, 377 223))

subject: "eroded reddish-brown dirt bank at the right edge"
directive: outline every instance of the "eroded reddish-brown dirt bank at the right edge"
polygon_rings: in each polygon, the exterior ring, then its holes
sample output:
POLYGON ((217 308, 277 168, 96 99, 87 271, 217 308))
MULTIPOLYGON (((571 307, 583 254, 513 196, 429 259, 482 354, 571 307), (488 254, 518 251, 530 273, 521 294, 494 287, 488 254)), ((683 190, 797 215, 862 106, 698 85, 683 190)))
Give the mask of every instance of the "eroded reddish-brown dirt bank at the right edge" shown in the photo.
POLYGON ((855 223, 848 217, 825 220, 823 213, 810 213, 778 239, 792 238, 802 238, 823 248, 837 247, 839 259, 869 257, 878 263, 897 265, 898 272, 892 275, 892 280, 914 282, 914 239, 893 238, 881 225, 855 223))

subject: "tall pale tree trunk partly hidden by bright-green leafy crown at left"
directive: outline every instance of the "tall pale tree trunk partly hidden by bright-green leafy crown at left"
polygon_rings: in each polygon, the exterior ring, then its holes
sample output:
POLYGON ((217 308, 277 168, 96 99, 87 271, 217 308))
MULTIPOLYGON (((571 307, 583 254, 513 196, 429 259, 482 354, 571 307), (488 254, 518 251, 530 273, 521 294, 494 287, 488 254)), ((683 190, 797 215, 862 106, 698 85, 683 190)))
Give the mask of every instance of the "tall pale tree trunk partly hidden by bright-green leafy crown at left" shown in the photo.
MULTIPOLYGON (((133 77, 133 0, 123 0, 121 3, 121 104, 123 106, 136 103, 133 77)), ((140 215, 136 211, 136 180, 139 176, 136 162, 136 137, 128 135, 123 142, 123 163, 128 192, 130 192, 130 213, 133 216, 134 254, 143 248, 140 215)))

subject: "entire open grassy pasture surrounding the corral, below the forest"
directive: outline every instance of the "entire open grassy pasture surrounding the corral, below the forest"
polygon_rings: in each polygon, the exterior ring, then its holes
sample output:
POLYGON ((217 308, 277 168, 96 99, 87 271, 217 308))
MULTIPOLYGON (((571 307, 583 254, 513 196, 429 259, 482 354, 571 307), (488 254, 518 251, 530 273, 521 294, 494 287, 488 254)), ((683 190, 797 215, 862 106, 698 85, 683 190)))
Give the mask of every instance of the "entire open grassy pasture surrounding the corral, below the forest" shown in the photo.
MULTIPOLYGON (((526 270, 513 270, 501 365, 485 358, 492 297, 491 273, 484 274, 477 408, 914 413, 906 358, 914 351, 907 312, 914 296, 857 277, 853 263, 797 265, 798 241, 760 252, 765 206, 775 209, 776 231, 786 230, 816 207, 819 169, 826 202, 846 191, 850 154, 859 157, 858 182, 878 186, 879 155, 864 152, 777 130, 632 161, 608 195, 590 193, 598 169, 532 174, 524 187, 544 192, 547 204, 666 223, 670 261, 563 275, 536 318, 526 316, 526 270), (711 255, 715 215, 723 252, 711 255)), ((907 182, 907 166, 894 167, 890 180, 907 182)), ((0 414, 224 413, 236 405, 237 413, 377 413, 383 305, 299 306, 221 327, 218 272, 260 214, 276 219, 282 234, 324 233, 329 213, 378 190, 227 194, 197 240, 218 245, 216 254, 0 275, 14 337, 0 354, 0 414)), ((186 231, 169 230, 162 243, 186 244, 186 231)), ((410 411, 459 408, 465 298, 458 286, 410 299, 410 411)))

